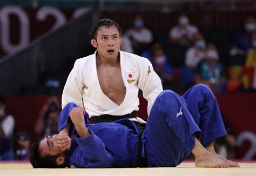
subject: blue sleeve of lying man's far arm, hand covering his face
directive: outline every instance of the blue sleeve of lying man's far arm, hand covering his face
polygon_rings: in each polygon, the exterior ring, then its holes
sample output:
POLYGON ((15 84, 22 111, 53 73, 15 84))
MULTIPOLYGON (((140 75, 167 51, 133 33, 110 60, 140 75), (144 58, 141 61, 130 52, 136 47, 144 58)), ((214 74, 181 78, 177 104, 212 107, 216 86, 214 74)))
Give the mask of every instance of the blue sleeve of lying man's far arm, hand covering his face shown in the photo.
MULTIPOLYGON (((67 124, 69 120, 69 113, 73 109, 73 107, 79 107, 75 103, 68 103, 66 106, 62 109, 62 112, 60 112, 59 117, 58 117, 58 130, 62 130, 67 124)), ((85 119, 85 124, 90 124, 88 120, 89 116, 88 113, 84 113, 84 119, 85 119)), ((71 124, 70 130, 69 130, 69 136, 72 136, 72 134, 75 132, 75 126, 71 124)))

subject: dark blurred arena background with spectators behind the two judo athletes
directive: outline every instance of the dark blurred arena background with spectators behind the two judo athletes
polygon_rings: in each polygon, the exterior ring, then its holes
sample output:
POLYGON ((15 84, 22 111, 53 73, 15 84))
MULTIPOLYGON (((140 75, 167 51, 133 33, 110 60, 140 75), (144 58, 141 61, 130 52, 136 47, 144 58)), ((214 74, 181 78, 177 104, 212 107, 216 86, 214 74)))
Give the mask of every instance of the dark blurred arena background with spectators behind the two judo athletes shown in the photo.
POLYGON ((255 1, 1 1, 0 14, 0 160, 26 160, 31 141, 58 131, 65 80, 95 52, 88 32, 100 18, 120 24, 120 50, 149 59, 164 89, 210 86, 228 133, 218 153, 255 159, 255 1))

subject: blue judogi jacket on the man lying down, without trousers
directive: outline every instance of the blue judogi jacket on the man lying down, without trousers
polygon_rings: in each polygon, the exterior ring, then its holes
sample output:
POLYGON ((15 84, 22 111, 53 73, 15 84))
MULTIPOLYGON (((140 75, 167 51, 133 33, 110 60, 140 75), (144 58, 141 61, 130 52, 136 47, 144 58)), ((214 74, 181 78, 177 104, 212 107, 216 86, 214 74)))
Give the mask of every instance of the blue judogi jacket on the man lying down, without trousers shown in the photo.
MULTIPOLYGON (((69 113, 78 105, 67 104, 58 118, 58 130, 62 130, 69 120, 69 113)), ((89 116, 84 114, 85 125, 91 135, 80 138, 71 125, 69 136, 72 137, 70 150, 65 154, 66 167, 136 167, 138 154, 139 128, 129 119, 113 123, 90 124, 89 116)))

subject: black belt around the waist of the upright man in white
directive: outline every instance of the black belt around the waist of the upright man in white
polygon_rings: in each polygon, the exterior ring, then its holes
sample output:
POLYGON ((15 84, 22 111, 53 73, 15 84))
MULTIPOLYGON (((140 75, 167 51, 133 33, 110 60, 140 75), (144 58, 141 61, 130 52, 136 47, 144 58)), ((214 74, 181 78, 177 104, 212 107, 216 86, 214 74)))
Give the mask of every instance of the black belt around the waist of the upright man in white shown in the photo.
POLYGON ((109 114, 105 114, 102 116, 93 116, 91 117, 91 123, 92 124, 97 124, 100 122, 111 122, 111 121, 116 121, 120 119, 129 119, 129 118, 136 118, 138 117, 137 111, 132 111, 130 114, 125 114, 124 116, 112 116, 109 114))

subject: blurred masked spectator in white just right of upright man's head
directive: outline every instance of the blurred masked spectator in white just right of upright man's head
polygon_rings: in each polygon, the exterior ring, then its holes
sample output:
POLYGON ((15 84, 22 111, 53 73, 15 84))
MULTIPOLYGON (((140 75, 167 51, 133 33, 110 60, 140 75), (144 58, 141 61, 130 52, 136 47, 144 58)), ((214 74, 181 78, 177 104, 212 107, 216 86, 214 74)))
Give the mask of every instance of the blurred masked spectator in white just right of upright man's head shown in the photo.
POLYGON ((137 15, 133 22, 133 28, 125 32, 125 36, 130 38, 134 53, 140 55, 153 40, 152 32, 144 27, 142 16, 137 15))

